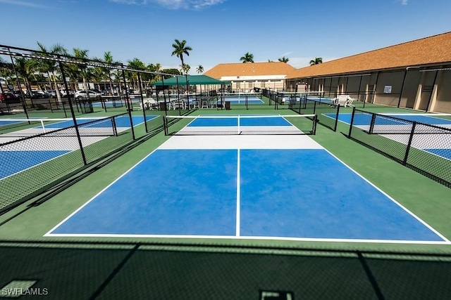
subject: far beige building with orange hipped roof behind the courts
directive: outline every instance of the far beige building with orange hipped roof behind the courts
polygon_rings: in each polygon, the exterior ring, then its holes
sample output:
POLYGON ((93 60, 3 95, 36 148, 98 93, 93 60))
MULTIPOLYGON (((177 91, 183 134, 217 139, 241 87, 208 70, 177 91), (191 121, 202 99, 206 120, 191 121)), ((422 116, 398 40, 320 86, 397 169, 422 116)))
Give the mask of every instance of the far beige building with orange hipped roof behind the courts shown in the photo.
POLYGON ((230 81, 233 91, 285 89, 287 74, 295 67, 287 63, 221 63, 204 74, 221 81, 230 81))

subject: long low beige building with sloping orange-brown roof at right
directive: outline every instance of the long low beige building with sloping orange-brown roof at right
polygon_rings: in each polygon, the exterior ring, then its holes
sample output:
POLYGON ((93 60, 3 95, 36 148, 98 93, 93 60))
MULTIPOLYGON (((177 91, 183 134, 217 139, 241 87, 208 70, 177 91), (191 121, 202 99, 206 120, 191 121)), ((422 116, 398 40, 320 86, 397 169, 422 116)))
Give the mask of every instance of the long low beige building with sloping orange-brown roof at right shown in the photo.
POLYGON ((287 89, 302 81, 330 97, 451 112, 451 32, 294 70, 287 89))

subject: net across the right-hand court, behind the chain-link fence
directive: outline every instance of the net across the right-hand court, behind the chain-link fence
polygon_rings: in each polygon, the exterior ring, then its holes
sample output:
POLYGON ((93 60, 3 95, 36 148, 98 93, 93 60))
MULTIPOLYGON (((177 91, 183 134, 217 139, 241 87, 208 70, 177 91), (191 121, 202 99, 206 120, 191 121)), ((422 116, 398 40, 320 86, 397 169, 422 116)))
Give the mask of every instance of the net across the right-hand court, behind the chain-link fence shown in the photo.
POLYGON ((366 114, 369 133, 450 134, 451 114, 366 114))

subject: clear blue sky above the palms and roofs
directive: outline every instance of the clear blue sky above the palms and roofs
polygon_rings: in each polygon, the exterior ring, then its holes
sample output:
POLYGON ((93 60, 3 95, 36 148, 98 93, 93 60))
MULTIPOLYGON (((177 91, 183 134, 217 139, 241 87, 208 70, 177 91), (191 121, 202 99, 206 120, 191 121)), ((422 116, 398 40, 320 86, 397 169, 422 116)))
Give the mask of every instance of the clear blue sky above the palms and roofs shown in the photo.
POLYGON ((186 40, 190 74, 247 52, 299 68, 451 31, 451 0, 0 0, 0 12, 0 44, 20 48, 180 69, 172 44, 186 40))

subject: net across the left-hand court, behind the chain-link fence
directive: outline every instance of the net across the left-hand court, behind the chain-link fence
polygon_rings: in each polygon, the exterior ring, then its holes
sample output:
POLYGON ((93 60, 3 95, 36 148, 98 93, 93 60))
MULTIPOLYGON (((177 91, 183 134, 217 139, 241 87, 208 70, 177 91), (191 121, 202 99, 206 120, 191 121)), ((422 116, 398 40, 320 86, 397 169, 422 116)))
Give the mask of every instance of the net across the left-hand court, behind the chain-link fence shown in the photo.
POLYGON ((0 137, 38 136, 113 136, 117 134, 114 117, 79 118, 77 126, 73 119, 0 119, 0 137), (18 130, 19 129, 19 130, 18 130))

